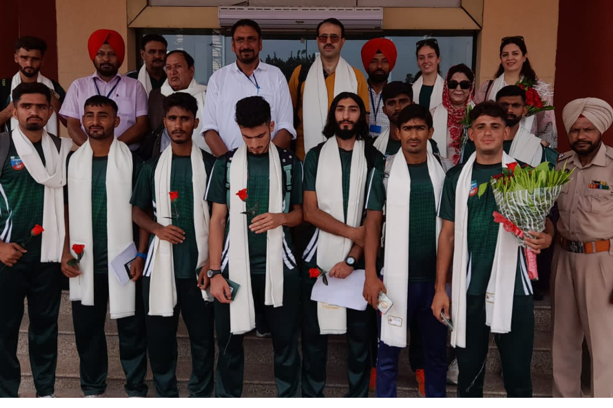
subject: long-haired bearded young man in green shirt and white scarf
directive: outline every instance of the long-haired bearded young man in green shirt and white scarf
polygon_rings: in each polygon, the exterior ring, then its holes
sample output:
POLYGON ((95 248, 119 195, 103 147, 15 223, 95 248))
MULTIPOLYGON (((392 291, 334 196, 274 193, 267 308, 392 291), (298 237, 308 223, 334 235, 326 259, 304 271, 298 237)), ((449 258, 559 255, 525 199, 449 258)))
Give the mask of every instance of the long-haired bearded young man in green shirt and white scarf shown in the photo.
MULTIPOLYGON (((368 111, 362 98, 341 92, 332 101, 324 128, 327 141, 307 153, 304 178, 304 218, 311 224, 303 253, 302 396, 323 396, 326 385, 328 335, 347 334, 347 397, 368 395, 370 327, 368 311, 352 310, 311 300, 318 268, 330 278, 345 279, 364 269, 364 201, 368 172, 383 172, 383 155, 368 137, 368 111)), ((340 283, 343 284, 343 283, 340 283)))

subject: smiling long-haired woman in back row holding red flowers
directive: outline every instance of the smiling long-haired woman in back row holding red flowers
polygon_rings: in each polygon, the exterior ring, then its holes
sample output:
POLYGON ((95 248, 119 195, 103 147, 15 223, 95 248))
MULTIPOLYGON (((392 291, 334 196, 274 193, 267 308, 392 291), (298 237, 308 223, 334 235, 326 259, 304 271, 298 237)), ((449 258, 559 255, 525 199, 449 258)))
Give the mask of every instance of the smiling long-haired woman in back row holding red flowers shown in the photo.
MULTIPOLYGON (((495 100, 500 89, 508 85, 519 83, 531 84, 538 92, 545 105, 554 105, 554 89, 550 84, 539 80, 528 60, 528 49, 524 37, 504 37, 500 43, 500 67, 495 74, 495 80, 486 81, 474 97, 474 102, 495 100)), ((528 132, 543 139, 550 147, 557 147, 558 131, 555 127, 555 114, 553 110, 541 111, 533 116, 522 119, 520 126, 528 132)))

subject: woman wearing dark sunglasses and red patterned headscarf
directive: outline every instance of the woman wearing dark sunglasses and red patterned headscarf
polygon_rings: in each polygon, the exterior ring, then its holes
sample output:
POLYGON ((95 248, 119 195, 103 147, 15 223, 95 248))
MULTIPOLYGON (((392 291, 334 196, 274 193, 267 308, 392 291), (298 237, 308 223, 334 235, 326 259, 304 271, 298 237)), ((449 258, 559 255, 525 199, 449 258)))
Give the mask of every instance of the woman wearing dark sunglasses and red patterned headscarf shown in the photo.
POLYGON ((460 161, 462 142, 465 140, 463 121, 466 107, 474 106, 473 89, 473 71, 465 64, 454 65, 447 71, 443 84, 443 102, 431 111, 434 123, 432 138, 441 146, 441 157, 453 161, 454 165, 460 161))

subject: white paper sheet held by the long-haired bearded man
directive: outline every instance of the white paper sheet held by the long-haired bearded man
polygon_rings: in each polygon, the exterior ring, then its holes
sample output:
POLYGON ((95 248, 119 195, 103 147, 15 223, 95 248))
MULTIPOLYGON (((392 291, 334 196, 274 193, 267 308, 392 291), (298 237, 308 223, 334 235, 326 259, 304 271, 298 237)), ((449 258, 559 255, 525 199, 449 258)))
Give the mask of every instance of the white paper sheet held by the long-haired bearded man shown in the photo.
POLYGON ((321 278, 317 279, 313 285, 311 300, 354 310, 366 310, 368 302, 362 296, 366 279, 364 269, 354 270, 345 279, 330 278, 330 276, 327 276, 327 278, 327 286, 321 278))

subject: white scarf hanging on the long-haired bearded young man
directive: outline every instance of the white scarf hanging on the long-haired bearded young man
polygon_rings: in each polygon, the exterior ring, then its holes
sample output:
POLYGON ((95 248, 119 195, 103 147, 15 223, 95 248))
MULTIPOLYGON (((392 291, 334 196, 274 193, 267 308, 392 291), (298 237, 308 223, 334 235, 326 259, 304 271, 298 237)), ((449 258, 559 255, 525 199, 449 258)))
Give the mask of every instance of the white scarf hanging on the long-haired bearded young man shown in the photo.
MULTIPOLYGON (((364 155, 365 143, 356 140, 351 155, 351 173, 349 176, 349 200, 347 204, 347 225, 359 227, 362 223, 364 209, 364 190, 366 187, 367 161, 364 155)), ((318 206, 339 221, 345 220, 343 211, 343 169, 337 137, 334 136, 321 147, 317 165, 315 190, 318 206)), ((338 262, 345 261, 353 242, 345 237, 335 236, 319 230, 317 246, 317 264, 329 272, 338 262)), ((319 332, 326 334, 343 334, 347 332, 347 311, 341 306, 318 302, 317 316, 319 332)))

